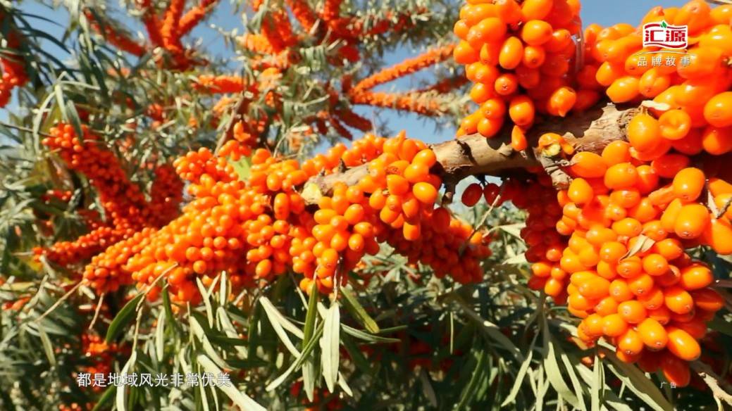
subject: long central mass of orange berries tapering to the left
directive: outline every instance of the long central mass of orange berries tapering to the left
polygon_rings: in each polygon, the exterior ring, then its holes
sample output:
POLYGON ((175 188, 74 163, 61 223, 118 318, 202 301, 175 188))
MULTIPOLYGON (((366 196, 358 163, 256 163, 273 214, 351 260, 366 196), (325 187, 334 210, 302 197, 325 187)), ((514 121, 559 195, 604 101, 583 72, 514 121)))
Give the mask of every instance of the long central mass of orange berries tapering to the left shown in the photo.
POLYGON ((230 140, 214 155, 206 148, 174 162, 194 197, 183 213, 160 230, 144 229, 92 259, 85 278, 97 290, 120 284, 153 284, 165 276, 173 298, 198 301, 196 278, 204 285, 226 271, 235 287, 252 287, 292 269, 329 293, 366 254, 386 241, 413 263, 438 275, 471 282, 482 277, 479 258, 490 254, 480 233, 434 208, 441 179, 430 173, 433 151, 405 135, 368 135, 346 149, 338 144, 303 163, 277 159, 269 151, 252 156, 250 176, 241 181, 230 161, 249 148, 230 140), (224 157, 226 156, 226 157, 224 157), (311 214, 297 187, 341 167, 365 165, 354 186, 337 183, 311 214), (462 252, 462 254, 460 254, 462 252))

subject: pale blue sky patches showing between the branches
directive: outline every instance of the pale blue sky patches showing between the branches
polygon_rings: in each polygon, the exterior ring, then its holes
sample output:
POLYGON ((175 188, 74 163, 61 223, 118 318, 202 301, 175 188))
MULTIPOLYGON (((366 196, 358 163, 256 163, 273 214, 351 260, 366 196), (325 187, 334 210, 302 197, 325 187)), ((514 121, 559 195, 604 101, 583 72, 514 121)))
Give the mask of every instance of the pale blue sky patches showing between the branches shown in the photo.
MULTIPOLYGON (((643 15, 646 14, 651 7, 662 5, 664 7, 681 6, 686 1, 681 0, 585 0, 582 5, 582 20, 586 26, 589 23, 598 23, 601 26, 611 26, 614 23, 631 23, 637 25, 640 23, 643 15)), ((188 4, 192 4, 193 1, 187 1, 188 4)), ((456 1, 456 4, 459 4, 456 1)), ((116 1, 108 2, 112 9, 119 10, 119 5, 116 1)), ((40 15, 50 20, 56 21, 58 25, 52 25, 42 20, 34 21, 34 26, 38 29, 46 31, 52 37, 61 39, 64 28, 69 19, 69 15, 64 8, 51 9, 45 4, 40 4, 37 1, 23 1, 20 4, 20 8, 30 14, 40 15)), ((127 27, 135 33, 136 36, 142 38, 143 27, 139 23, 139 20, 129 18, 122 14, 113 14, 115 18, 119 18, 123 23, 127 24, 127 27)), ((29 18, 30 19, 30 18, 29 18)), ((231 3, 228 0, 220 0, 217 8, 214 10, 212 15, 205 23, 199 25, 193 32, 184 39, 184 41, 192 42, 195 39, 201 39, 203 48, 209 50, 214 56, 227 57, 232 56, 231 50, 228 50, 219 31, 231 32, 236 30, 237 34, 243 33, 242 17, 239 12, 234 10, 231 3)), ((51 42, 45 42, 45 48, 55 53, 59 59, 63 59, 64 54, 59 48, 56 48, 51 42)), ((417 56, 421 50, 413 50, 410 48, 400 48, 395 50, 393 53, 389 53, 384 56, 386 64, 395 64, 403 59, 407 59, 411 56, 417 56)), ((236 64, 236 62, 234 62, 236 64)), ((235 67, 235 66, 234 66, 235 67)), ((411 87, 417 86, 417 82, 420 80, 429 80, 433 77, 432 69, 425 69, 417 75, 411 76, 411 78, 403 78, 395 82, 389 83, 381 88, 384 91, 399 91, 408 90, 411 87)), ((15 102, 11 102, 6 109, 0 110, 0 120, 7 118, 7 110, 17 111, 19 110, 18 105, 15 102)), ((371 108, 359 107, 356 108, 356 112, 371 118, 373 111, 371 108)), ((417 137, 428 143, 437 143, 440 141, 448 140, 455 135, 455 127, 436 127, 433 121, 425 120, 420 116, 411 113, 397 113, 394 110, 383 110, 380 115, 381 119, 386 120, 386 124, 389 129, 398 131, 405 129, 408 136, 417 137)))

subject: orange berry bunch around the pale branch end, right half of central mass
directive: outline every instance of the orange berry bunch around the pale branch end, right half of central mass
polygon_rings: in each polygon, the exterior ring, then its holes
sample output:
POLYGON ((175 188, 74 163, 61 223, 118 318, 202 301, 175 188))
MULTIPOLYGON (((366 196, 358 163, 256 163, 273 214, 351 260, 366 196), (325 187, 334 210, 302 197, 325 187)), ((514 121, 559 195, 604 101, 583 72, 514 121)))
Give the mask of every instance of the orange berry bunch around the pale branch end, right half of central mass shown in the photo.
POLYGON ((445 208, 433 209, 441 179, 430 173, 436 157, 424 143, 403 133, 389 140, 367 135, 351 150, 335 146, 327 156, 305 162, 303 170, 313 175, 318 169, 332 173, 341 161, 346 167, 367 164, 368 173, 354 186, 336 184, 332 196, 318 203, 313 237, 294 241, 294 246, 305 248, 294 250, 304 251, 294 257, 294 270, 305 274, 302 289, 308 290, 314 280, 319 290, 329 290, 338 274, 345 282, 346 273, 366 253, 376 254, 378 243, 384 241, 412 263, 432 266, 439 276, 449 273, 460 282, 482 276, 477 258, 488 255, 488 248, 476 241, 460 260, 459 250, 471 227, 451 222, 445 208), (312 256, 308 241, 314 243, 312 256), (308 265, 313 257, 315 271, 308 265))

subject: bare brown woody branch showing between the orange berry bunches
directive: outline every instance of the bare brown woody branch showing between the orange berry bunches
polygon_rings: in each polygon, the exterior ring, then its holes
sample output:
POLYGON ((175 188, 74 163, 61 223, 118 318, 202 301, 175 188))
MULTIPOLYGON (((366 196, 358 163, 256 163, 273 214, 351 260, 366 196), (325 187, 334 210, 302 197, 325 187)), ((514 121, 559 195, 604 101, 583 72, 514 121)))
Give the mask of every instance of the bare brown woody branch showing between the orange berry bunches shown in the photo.
MULTIPOLYGON (((599 153, 614 140, 625 140, 627 125, 638 113, 638 108, 617 108, 615 105, 598 106, 571 118, 548 118, 537 122, 529 131, 530 141, 538 141, 531 151, 515 151, 510 146, 511 133, 501 132, 487 139, 482 135, 468 135, 457 140, 446 141, 433 146, 437 167, 447 187, 454 186, 467 176, 501 175, 507 170, 544 167, 556 186, 567 186, 569 176, 560 165, 569 165, 562 159, 559 146, 571 147, 573 151, 599 153), (553 133, 559 141, 549 141, 539 136, 553 133), (556 147, 555 147, 556 146, 556 147)), ((311 178, 303 190, 308 204, 318 203, 328 195, 332 187, 343 182, 355 185, 368 173, 367 165, 352 167, 343 173, 311 178)))

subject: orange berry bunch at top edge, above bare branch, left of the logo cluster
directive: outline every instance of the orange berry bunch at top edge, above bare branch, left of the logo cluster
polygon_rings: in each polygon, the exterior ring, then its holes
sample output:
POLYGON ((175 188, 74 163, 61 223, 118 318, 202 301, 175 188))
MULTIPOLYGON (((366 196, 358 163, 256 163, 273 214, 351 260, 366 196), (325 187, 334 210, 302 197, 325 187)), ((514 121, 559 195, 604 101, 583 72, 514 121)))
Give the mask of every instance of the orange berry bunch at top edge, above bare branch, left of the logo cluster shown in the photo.
MULTIPOLYGON (((507 115, 523 134, 536 112, 565 116, 575 108, 580 91, 571 77, 572 36, 580 31, 579 11, 576 0, 468 1, 460 9, 455 61, 466 65, 474 83, 470 97, 480 108, 463 120, 458 136, 479 132, 493 137, 507 115)), ((597 97, 590 100, 580 108, 597 97)), ((525 138, 512 146, 523 150, 525 138)))

